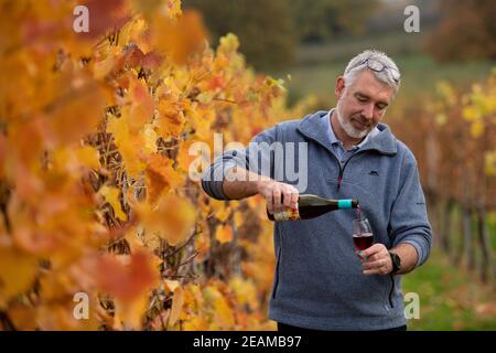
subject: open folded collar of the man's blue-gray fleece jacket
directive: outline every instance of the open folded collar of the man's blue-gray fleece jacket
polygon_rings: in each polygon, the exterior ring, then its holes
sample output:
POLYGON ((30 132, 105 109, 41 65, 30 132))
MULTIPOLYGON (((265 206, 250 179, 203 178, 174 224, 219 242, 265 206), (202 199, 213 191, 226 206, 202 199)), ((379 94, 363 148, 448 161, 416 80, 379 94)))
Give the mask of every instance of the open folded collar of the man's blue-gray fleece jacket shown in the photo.
MULTIPOLYGON (((322 120, 327 118, 326 110, 319 110, 314 114, 308 115, 302 120, 300 120, 300 124, 298 126, 298 130, 304 135, 306 138, 310 138, 323 147, 325 147, 327 150, 331 151, 331 147, 328 143, 328 132, 323 128, 322 120)), ((391 130, 386 124, 377 125, 377 129, 379 130, 379 133, 377 133, 374 137, 370 137, 367 139, 367 141, 364 143, 364 146, 360 147, 360 151, 365 150, 375 150, 382 154, 393 156, 397 153, 397 147, 396 147, 396 138, 391 133, 391 130)), ((331 151, 332 152, 332 151, 331 151)))

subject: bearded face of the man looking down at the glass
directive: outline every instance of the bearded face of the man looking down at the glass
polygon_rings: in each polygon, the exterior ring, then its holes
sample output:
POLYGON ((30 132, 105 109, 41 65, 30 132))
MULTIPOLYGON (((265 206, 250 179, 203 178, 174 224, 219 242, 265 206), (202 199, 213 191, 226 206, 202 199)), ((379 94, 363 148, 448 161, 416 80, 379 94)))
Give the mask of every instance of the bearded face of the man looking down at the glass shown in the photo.
POLYGON ((335 93, 339 125, 351 138, 359 139, 380 122, 392 100, 393 88, 379 82, 366 69, 347 87, 339 77, 335 93))

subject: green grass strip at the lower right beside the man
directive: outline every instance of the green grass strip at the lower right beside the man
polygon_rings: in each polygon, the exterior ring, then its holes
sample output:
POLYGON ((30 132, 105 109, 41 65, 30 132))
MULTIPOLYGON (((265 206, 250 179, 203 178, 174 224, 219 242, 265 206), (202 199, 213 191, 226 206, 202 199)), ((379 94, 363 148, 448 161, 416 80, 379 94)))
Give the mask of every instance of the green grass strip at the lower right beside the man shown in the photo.
POLYGON ((496 330, 496 292, 477 278, 434 249, 428 263, 403 278, 403 293, 420 297, 420 319, 410 319, 409 330, 496 330))

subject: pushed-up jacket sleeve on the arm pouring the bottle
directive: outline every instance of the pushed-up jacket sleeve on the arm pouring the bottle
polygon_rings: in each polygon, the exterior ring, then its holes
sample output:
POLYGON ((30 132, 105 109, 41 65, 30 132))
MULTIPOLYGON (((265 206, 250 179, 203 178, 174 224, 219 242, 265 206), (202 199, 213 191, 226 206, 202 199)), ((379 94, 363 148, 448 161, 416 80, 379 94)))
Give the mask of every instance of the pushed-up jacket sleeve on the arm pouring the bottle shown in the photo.
POLYGON ((246 149, 234 149, 217 157, 202 175, 202 188, 213 199, 229 200, 223 189, 227 171, 238 165, 250 172, 273 178, 271 143, 277 140, 278 126, 257 135, 246 149), (266 168, 267 167, 267 168, 266 168))

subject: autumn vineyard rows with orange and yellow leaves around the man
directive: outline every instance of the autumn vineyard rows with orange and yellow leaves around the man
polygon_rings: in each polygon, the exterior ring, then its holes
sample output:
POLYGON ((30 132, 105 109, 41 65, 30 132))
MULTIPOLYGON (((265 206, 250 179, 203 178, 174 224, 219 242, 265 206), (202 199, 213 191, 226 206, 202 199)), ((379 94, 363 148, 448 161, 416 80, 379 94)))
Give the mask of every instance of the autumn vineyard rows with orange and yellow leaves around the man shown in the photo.
MULTIPOLYGON (((76 1, 0 2, 0 330, 274 330, 265 201, 200 175, 314 101, 290 107, 180 0, 86 3, 77 33, 76 1)), ((496 290, 496 69, 412 106, 390 125, 435 242, 496 290)))

